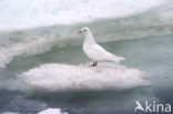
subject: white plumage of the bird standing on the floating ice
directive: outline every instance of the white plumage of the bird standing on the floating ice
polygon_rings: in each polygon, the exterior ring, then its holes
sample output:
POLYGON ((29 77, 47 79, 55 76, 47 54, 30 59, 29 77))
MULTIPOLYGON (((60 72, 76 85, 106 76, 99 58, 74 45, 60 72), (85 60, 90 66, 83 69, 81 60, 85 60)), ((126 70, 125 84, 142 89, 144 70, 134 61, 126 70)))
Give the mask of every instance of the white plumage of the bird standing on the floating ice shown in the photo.
POLYGON ((106 50, 104 50, 101 45, 99 45, 88 28, 83 28, 80 33, 84 34, 84 43, 83 43, 83 52, 88 55, 89 59, 94 61, 115 61, 120 63, 122 60, 125 60, 122 56, 116 56, 106 50))

